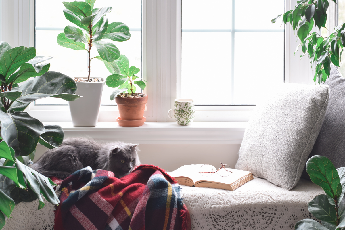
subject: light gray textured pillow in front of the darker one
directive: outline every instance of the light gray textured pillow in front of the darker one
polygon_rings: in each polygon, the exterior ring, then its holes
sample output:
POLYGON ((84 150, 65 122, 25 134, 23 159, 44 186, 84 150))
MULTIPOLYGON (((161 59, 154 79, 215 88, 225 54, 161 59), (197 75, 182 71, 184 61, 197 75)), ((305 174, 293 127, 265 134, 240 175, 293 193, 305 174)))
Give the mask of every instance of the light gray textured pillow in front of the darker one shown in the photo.
POLYGON ((250 118, 235 168, 290 190, 319 134, 329 87, 285 83, 250 118))

